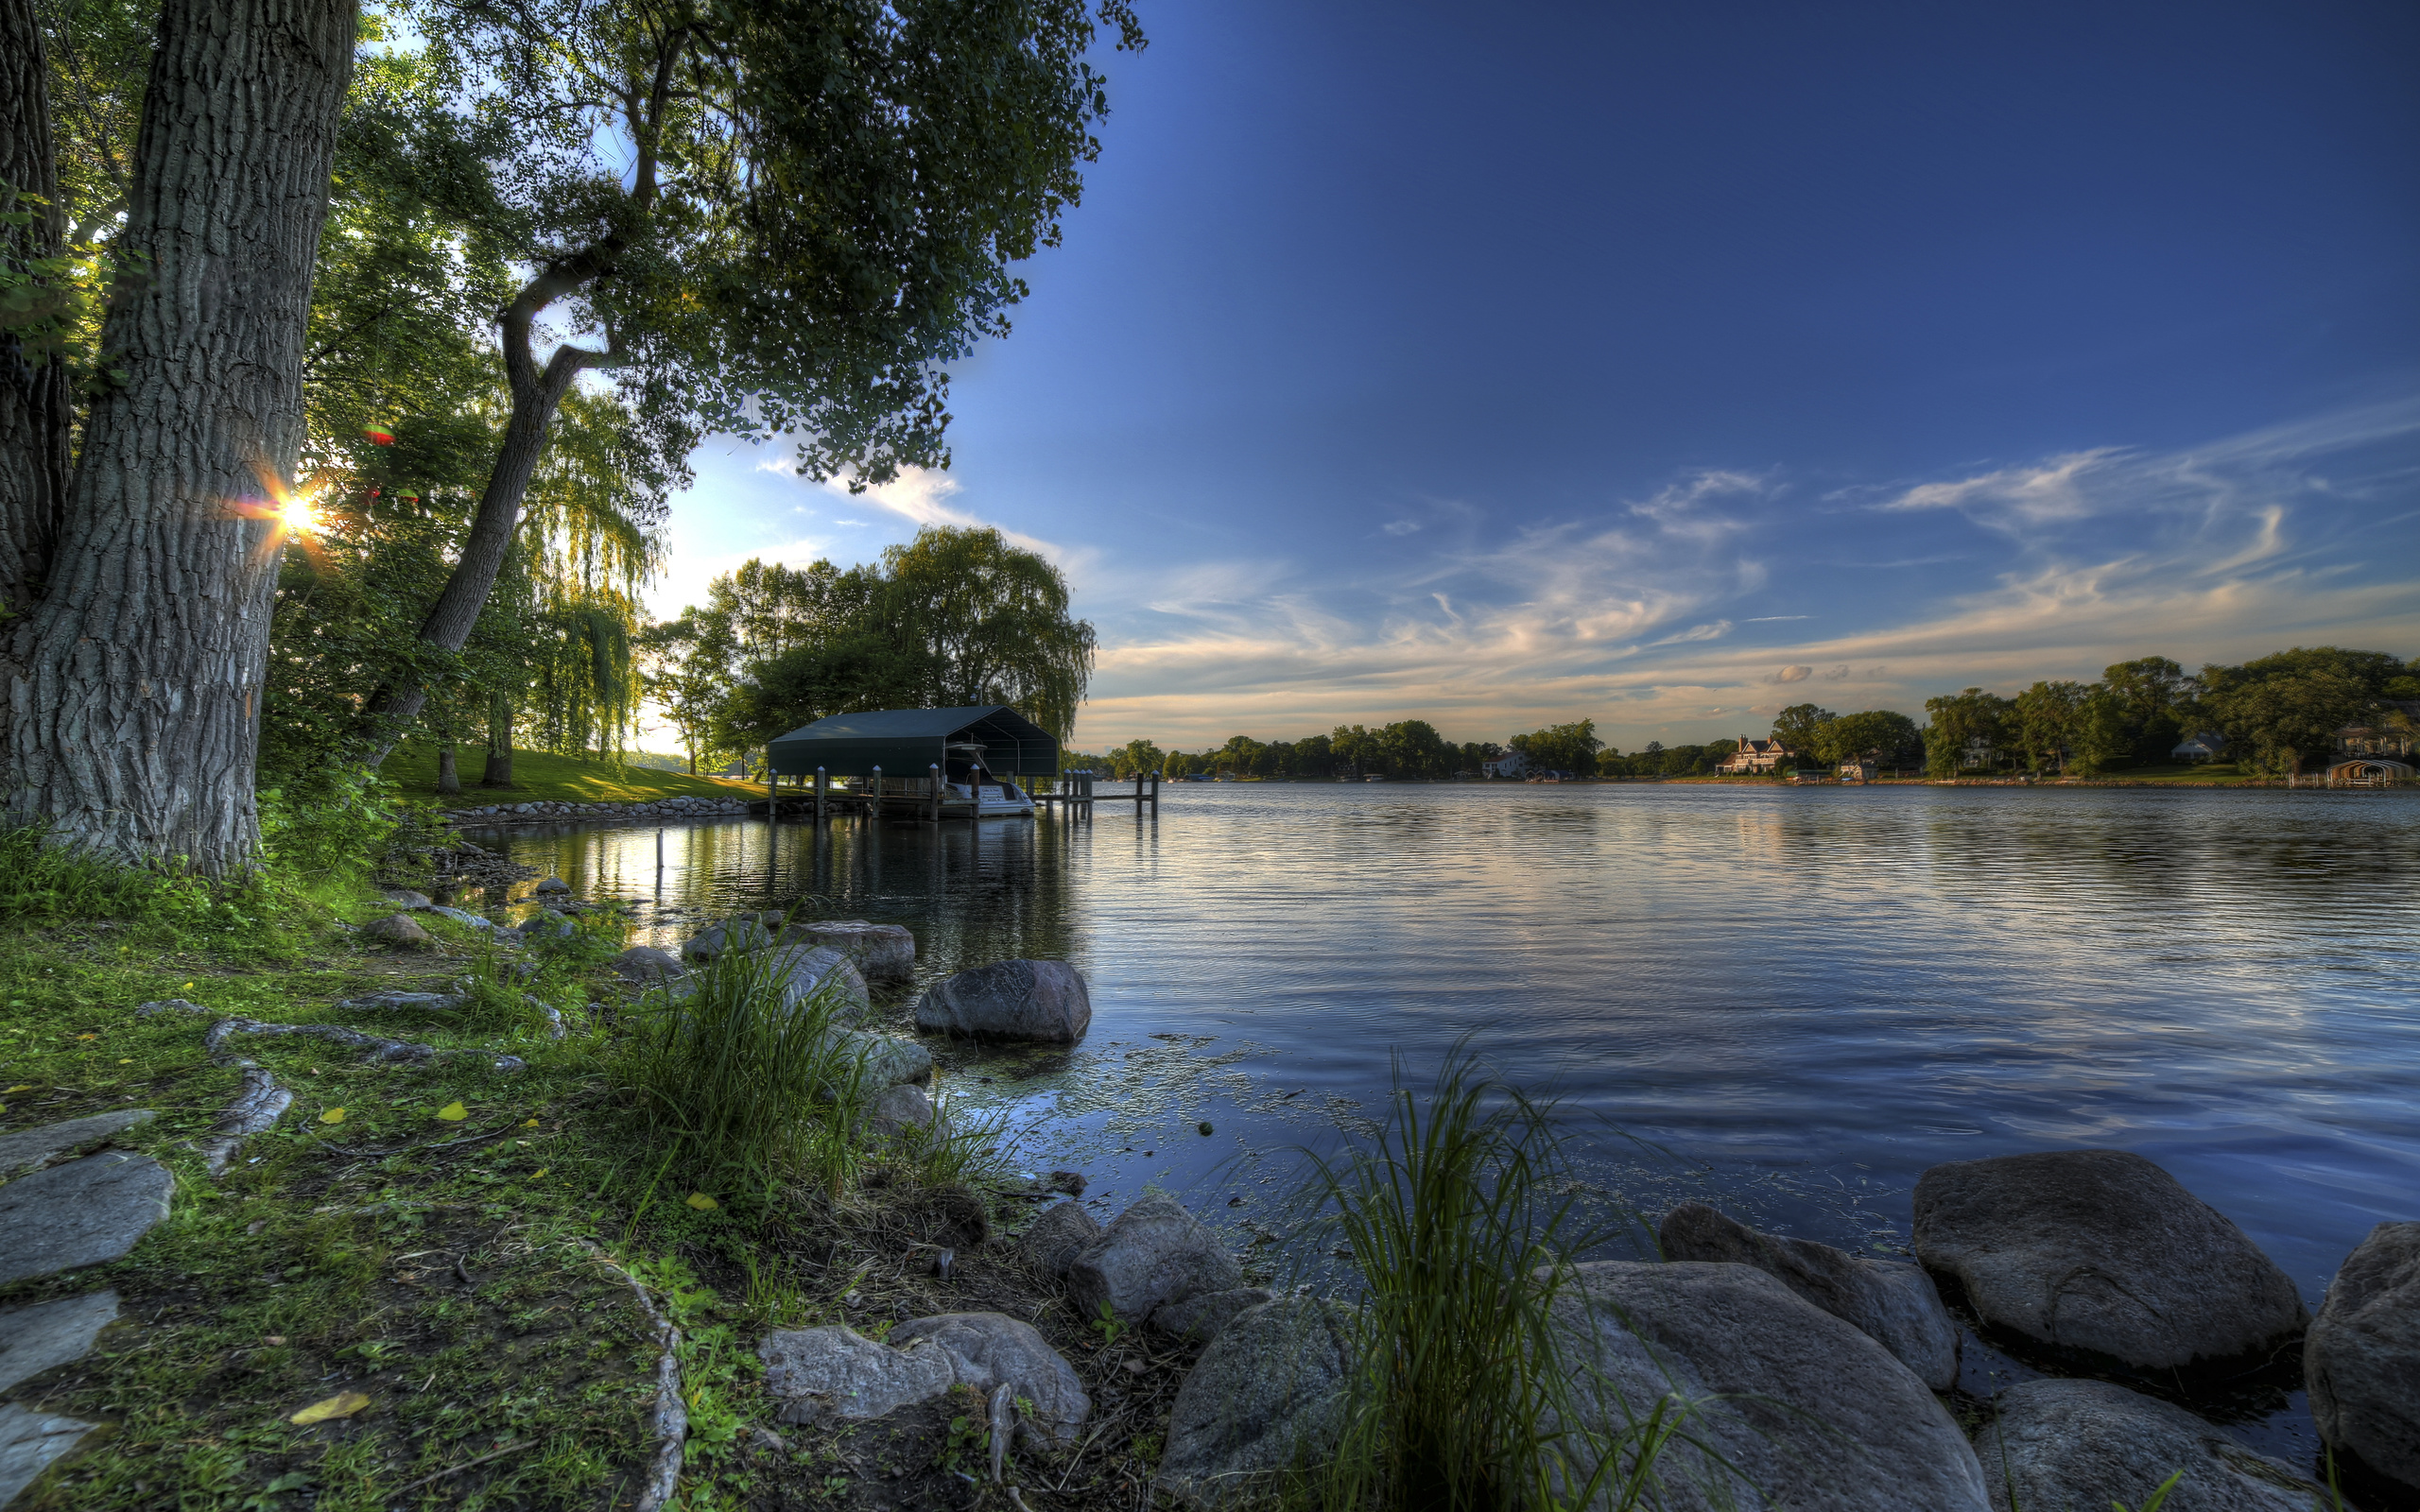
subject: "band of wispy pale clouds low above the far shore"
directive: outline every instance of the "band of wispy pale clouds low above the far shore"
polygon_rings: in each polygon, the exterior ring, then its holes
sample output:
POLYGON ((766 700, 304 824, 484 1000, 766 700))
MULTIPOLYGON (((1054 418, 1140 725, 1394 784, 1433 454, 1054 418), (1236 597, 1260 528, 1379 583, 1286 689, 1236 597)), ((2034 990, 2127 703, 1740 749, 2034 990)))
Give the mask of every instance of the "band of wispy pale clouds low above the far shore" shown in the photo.
POLYGON ((1827 706, 1919 714, 1943 689, 2088 677, 2147 651, 2420 651, 2415 438, 2420 399, 1888 489, 1706 469, 1561 520, 1491 532, 1474 515, 1450 544, 1406 542, 1413 554, 1350 573, 1193 564, 1154 581, 1147 617, 1116 617, 1079 738, 1215 743, 1404 716, 1503 738, 1595 716, 1636 743, 1769 716, 1800 685, 1827 706), (1951 544, 1941 530, 1992 544, 1839 564, 1844 537, 1900 537, 1900 520, 1934 520, 1931 544, 1951 544), (1936 571, 1909 590, 1907 569, 1936 571), (1771 593, 1822 598, 1839 634, 1791 639, 1810 614, 1740 614, 1771 593))

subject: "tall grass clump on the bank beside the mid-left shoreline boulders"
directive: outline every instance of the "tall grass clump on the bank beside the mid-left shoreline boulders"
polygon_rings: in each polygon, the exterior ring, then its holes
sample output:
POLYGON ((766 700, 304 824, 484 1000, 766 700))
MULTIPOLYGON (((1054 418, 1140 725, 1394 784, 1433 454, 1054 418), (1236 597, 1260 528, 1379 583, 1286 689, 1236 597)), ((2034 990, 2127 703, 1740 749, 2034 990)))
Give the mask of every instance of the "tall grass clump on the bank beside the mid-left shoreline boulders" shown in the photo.
POLYGON ((784 1006, 786 985, 784 951, 731 951, 649 992, 622 1074, 668 1161, 837 1195, 857 1168, 864 1050, 842 1033, 830 982, 784 1006))

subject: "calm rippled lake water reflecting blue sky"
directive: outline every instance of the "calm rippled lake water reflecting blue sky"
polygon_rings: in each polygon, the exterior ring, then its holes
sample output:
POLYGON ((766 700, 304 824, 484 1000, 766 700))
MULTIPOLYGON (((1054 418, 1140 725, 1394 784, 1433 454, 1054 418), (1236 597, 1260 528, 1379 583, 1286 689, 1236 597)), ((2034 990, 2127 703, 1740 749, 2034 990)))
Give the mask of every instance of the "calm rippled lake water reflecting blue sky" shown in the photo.
POLYGON ((670 827, 661 873, 653 827, 501 849, 668 948, 803 902, 908 924, 920 980, 1077 963, 1084 1045, 951 1048, 944 1086, 1106 1207, 1266 1214, 1471 1035, 1648 1212, 1890 1248, 1936 1161, 2118 1147, 2314 1306, 2420 1217, 2410 793, 1183 784, 1157 820, 670 827))

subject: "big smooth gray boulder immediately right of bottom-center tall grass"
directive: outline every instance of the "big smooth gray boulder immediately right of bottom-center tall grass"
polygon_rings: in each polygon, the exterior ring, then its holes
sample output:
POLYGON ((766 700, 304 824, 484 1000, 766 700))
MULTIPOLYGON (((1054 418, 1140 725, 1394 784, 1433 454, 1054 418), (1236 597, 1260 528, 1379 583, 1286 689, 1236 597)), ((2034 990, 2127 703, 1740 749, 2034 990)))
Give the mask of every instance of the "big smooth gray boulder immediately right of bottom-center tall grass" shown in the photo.
POLYGON ((1677 1396, 1692 1403, 1684 1432, 1713 1452, 1665 1447, 1653 1500, 1667 1512, 1759 1495, 1779 1512, 1987 1507, 1982 1468, 1924 1381, 1771 1275, 1699 1260, 1573 1270, 1556 1331, 1588 1427, 1612 1439, 1677 1396))

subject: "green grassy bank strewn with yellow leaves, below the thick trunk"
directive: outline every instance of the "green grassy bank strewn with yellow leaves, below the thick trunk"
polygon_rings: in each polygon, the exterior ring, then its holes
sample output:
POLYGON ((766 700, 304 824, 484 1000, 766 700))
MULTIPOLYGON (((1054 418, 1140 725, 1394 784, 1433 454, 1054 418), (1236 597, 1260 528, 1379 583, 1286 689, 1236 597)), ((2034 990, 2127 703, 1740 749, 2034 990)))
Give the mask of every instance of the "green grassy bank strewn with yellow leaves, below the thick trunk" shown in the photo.
MULTIPOLYGON (((39 871, 10 859, 19 878, 39 871)), ((1045 1505, 1130 1507, 1147 1483, 1137 1454, 1183 1362, 1164 1340, 1104 1340, 1012 1246, 985 1243, 1033 1193, 997 1185, 970 1142, 854 1139, 852 1106, 794 1084, 772 1093, 806 1120, 799 1149, 736 1161, 726 1139, 692 1139, 714 1132, 695 1103, 644 1093, 699 1079, 661 1064, 661 1035, 658 1064, 639 1064, 644 1004, 603 970, 624 934, 610 912, 506 951, 431 914, 431 946, 373 943, 358 927, 390 910, 365 883, 51 876, 0 902, 0 1127, 150 1108, 116 1142, 177 1181, 172 1217, 126 1260, 0 1287, 0 1306, 114 1287, 123 1318, 87 1360, 7 1393, 109 1425, 19 1507, 629 1507, 658 1369, 632 1277, 682 1333, 678 1505, 692 1512, 1004 1505, 958 1473, 983 1456, 980 1420, 973 1447, 951 1410, 782 1427, 757 1381, 753 1345, 772 1326, 881 1335, 968 1309, 1033 1321, 1113 1403, 1082 1461, 1053 1468, 1062 1490, 1045 1505), (339 1006, 373 992, 467 1002, 339 1006), (165 999, 203 1011, 136 1011, 165 999), (213 1057, 203 1033, 227 1016, 448 1055, 365 1064, 319 1038, 237 1033, 213 1057), (496 1069, 499 1055, 525 1064, 496 1069), (213 1176, 196 1144, 240 1089, 232 1057, 266 1067, 293 1106, 213 1176), (937 1246, 958 1251, 946 1277, 937 1246), (336 1415, 293 1422, 315 1403, 336 1415)), ((724 1086, 726 1101, 772 1093, 724 1086)))

